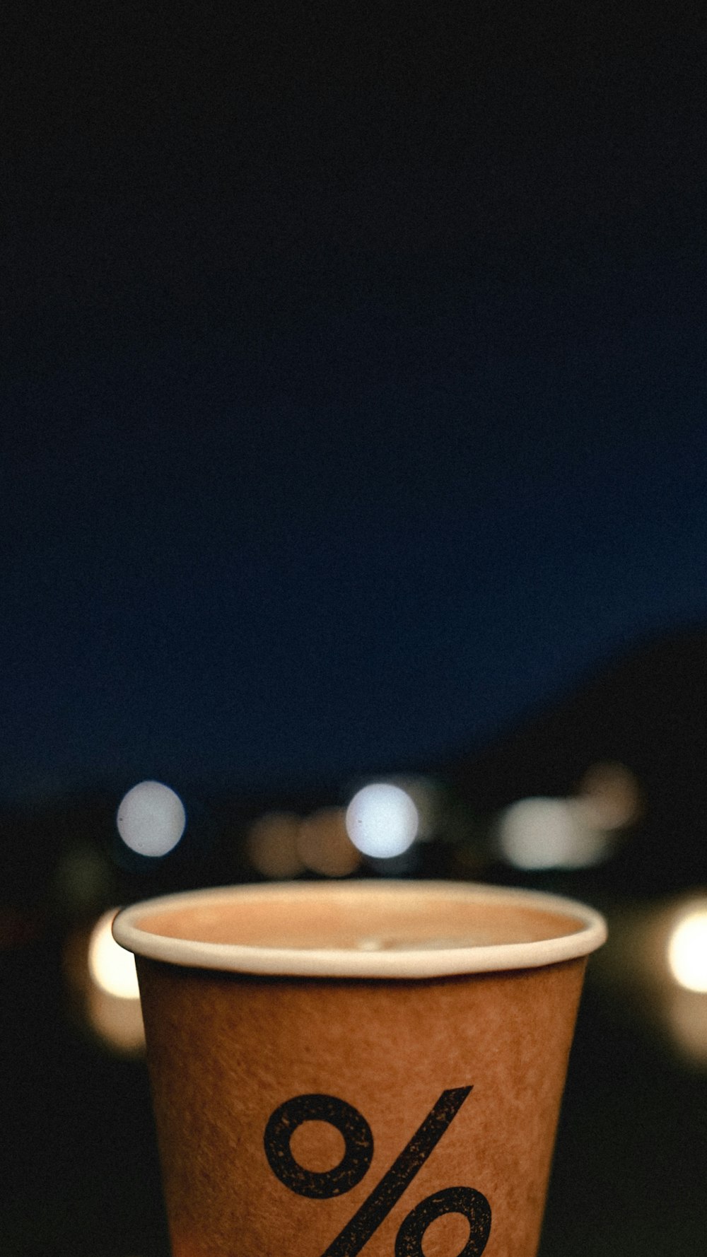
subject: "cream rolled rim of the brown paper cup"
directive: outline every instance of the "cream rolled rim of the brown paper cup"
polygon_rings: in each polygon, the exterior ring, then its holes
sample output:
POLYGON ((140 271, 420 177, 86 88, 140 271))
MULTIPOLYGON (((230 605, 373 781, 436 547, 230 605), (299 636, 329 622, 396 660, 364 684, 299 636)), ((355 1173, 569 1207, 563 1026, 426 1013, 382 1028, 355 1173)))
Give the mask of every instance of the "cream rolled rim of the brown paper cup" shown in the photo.
POLYGON ((142 900, 122 909, 113 921, 113 936, 121 947, 151 960, 164 960, 186 968, 230 973, 309 978, 439 978, 465 973, 491 973, 507 969, 532 969, 561 960, 589 955, 606 939, 606 923, 600 913, 574 899, 543 891, 492 886, 481 882, 396 881, 392 879, 347 880, 341 882, 263 882, 181 891, 142 900), (367 895, 398 897, 428 894, 430 890, 449 899, 474 903, 481 899, 522 904, 530 909, 571 916, 577 929, 560 936, 530 943, 497 943, 479 947, 430 949, 424 945, 395 950, 359 948, 254 947, 240 943, 205 943, 148 933, 140 928, 143 916, 161 909, 203 905, 223 900, 282 900, 296 896, 321 897, 322 891, 341 900, 367 895))

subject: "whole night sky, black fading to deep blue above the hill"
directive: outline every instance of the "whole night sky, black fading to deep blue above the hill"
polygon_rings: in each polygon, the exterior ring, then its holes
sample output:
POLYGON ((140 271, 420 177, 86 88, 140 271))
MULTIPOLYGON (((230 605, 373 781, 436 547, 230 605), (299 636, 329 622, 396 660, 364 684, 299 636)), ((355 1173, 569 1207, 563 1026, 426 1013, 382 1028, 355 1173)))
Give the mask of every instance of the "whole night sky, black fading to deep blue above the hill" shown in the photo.
POLYGON ((5 18, 0 791, 462 749, 707 617, 693 5, 5 18))

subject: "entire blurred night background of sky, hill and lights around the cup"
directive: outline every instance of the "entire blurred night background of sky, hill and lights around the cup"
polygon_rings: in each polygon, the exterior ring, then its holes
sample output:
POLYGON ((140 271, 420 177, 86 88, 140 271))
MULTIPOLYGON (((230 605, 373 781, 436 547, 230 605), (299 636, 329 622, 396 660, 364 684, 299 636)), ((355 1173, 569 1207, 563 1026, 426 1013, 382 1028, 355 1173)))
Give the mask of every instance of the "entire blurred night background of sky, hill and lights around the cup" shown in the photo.
POLYGON ((118 905, 425 876, 606 913, 541 1253, 697 1257, 703 16, 3 26, 3 1253, 169 1251, 118 905))

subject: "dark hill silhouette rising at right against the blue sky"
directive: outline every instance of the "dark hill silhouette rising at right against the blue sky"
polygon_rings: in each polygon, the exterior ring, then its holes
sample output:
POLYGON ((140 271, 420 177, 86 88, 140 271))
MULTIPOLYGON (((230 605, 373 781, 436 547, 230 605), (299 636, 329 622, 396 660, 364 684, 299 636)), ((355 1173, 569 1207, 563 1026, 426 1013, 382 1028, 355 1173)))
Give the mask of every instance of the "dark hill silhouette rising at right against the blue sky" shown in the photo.
POLYGON ((707 882, 707 630, 644 642, 445 777, 476 811, 571 793, 599 760, 640 784, 643 817, 614 861, 626 889, 707 882))

